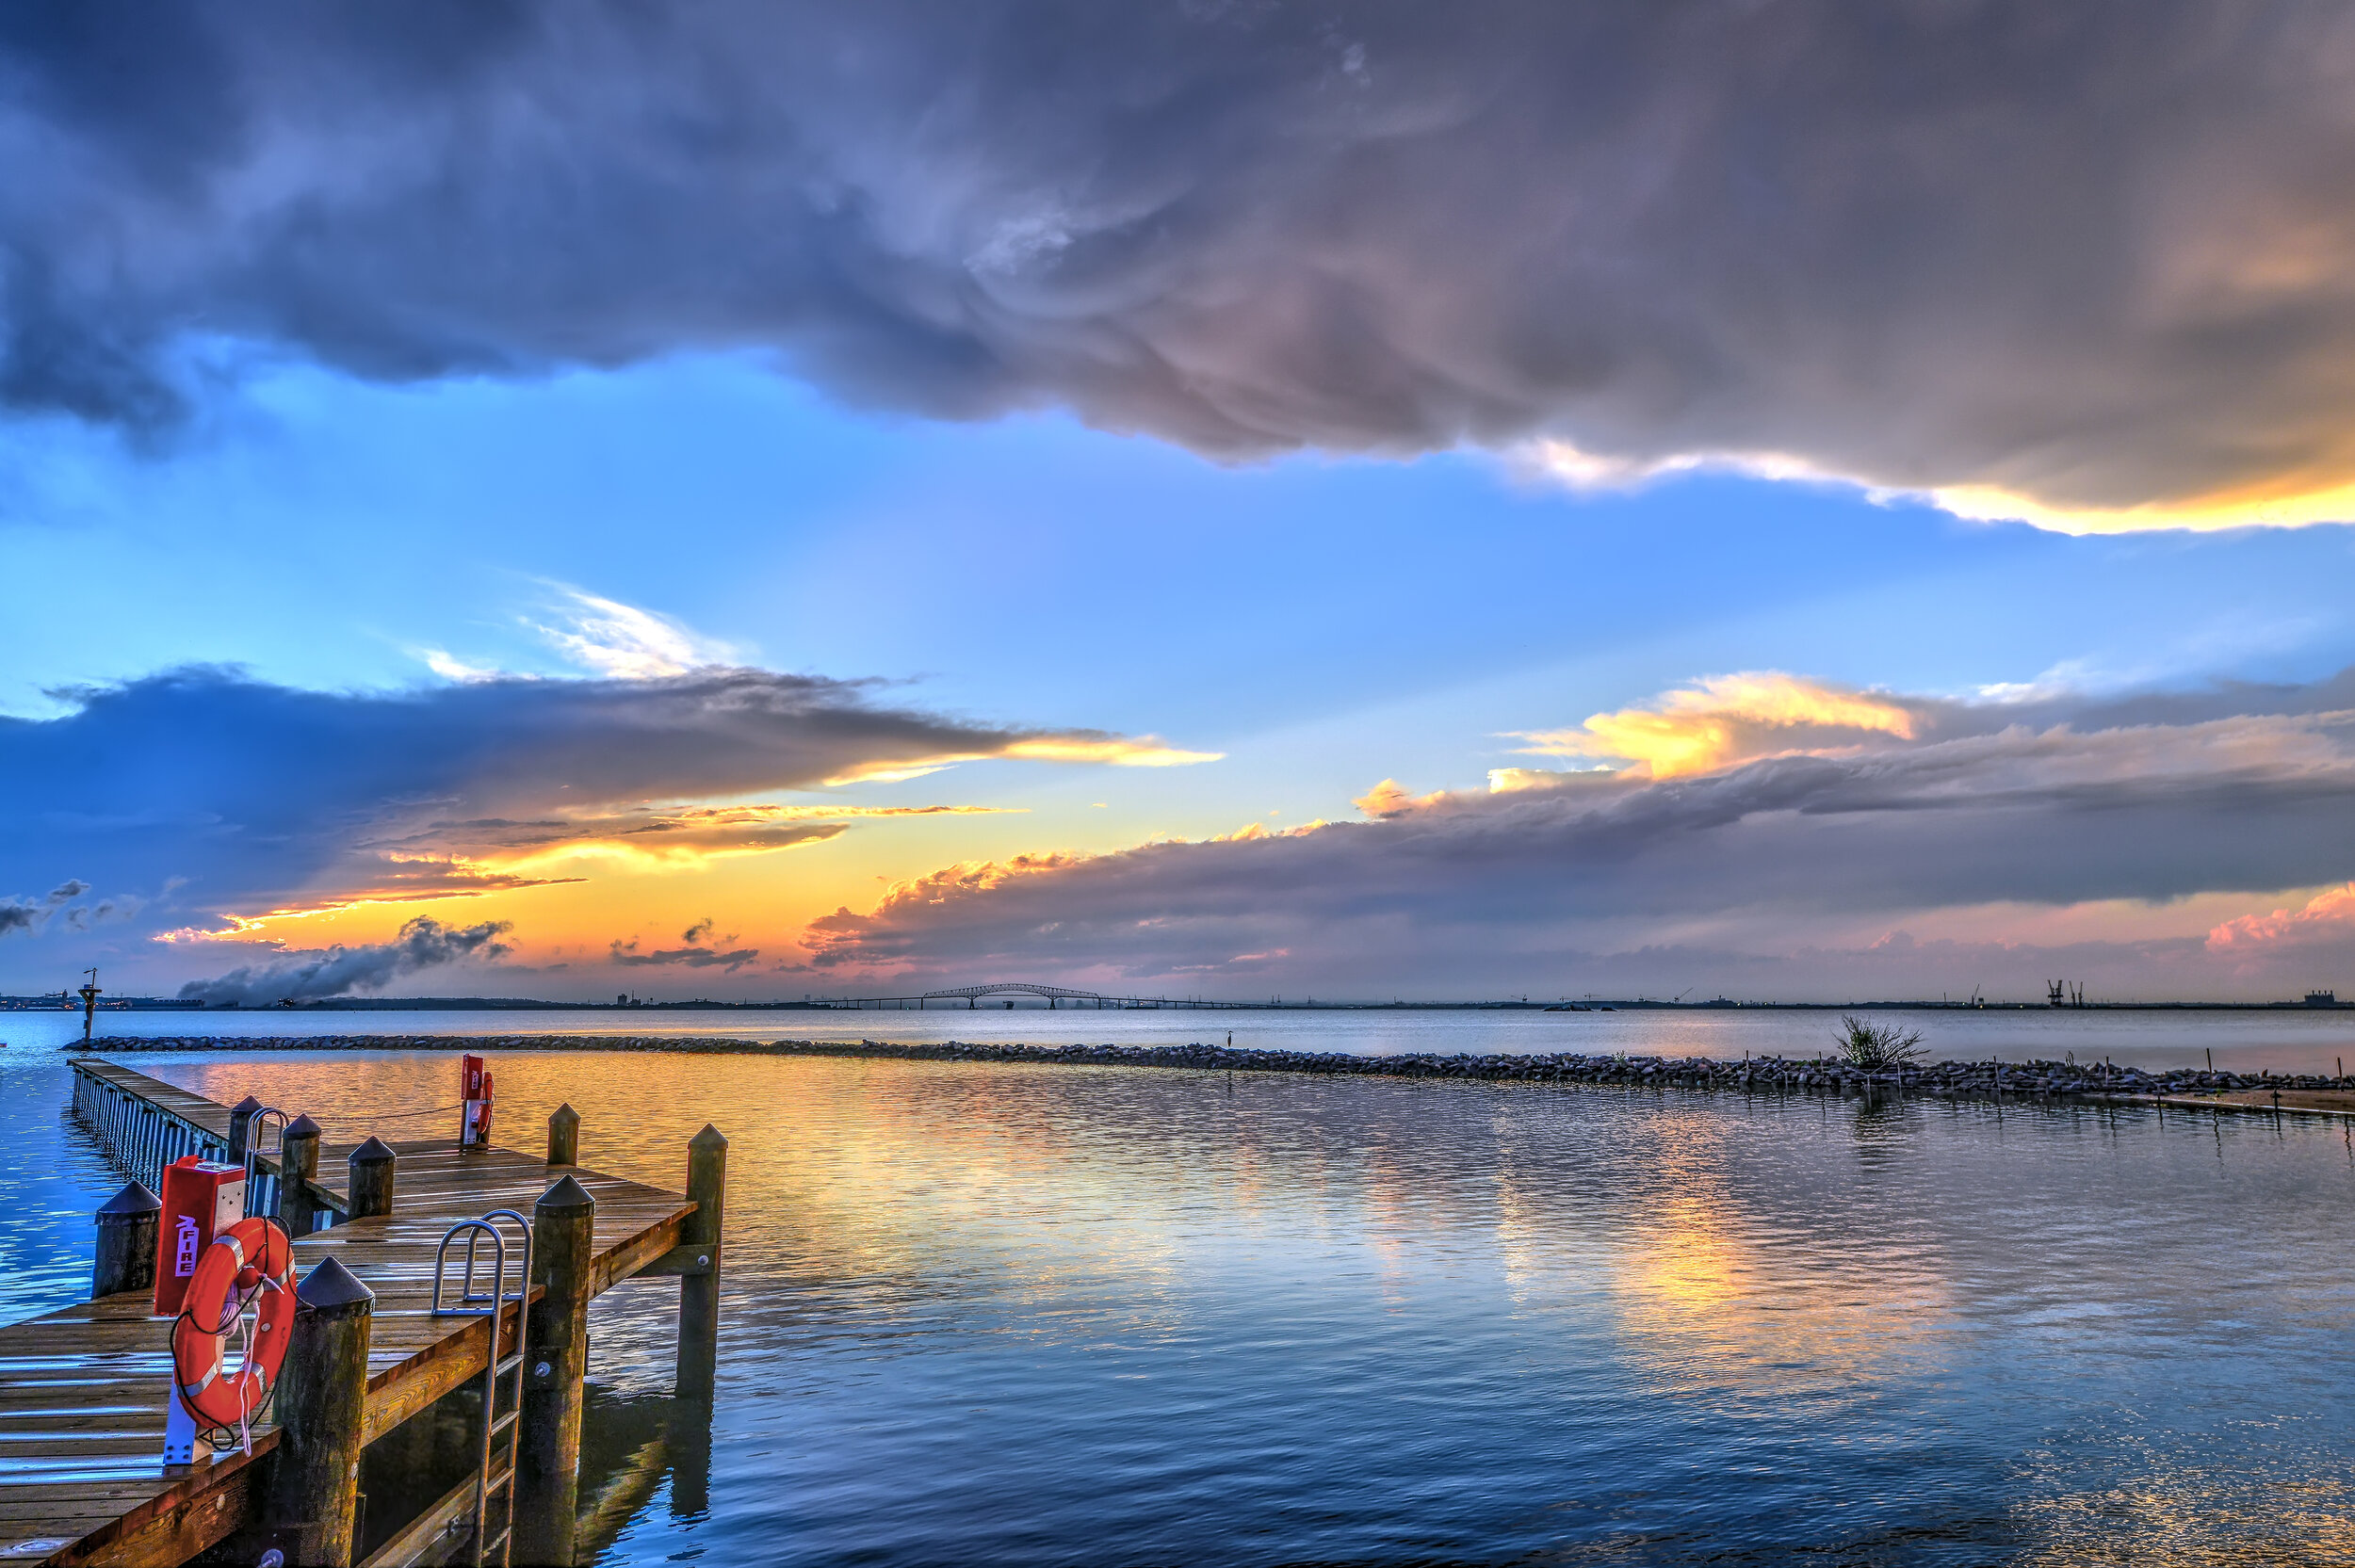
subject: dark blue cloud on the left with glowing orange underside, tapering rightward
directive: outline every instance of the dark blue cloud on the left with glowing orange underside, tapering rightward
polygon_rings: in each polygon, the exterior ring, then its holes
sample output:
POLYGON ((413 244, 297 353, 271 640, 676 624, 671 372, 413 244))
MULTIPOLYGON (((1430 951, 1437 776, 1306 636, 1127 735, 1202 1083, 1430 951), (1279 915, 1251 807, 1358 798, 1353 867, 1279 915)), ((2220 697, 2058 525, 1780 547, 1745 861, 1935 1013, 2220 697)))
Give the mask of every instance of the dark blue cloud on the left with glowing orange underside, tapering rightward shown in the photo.
MULTIPOLYGON (((869 697, 860 683, 756 669, 372 695, 184 669, 71 692, 78 706, 61 718, 0 718, 0 885, 68 864, 106 885, 170 881, 174 897, 148 913, 181 921, 490 892, 544 881, 523 862, 589 841, 709 857, 843 831, 822 805, 664 800, 956 758, 1163 756, 1093 730, 975 725, 869 697)), ((841 810, 860 815, 881 812, 841 810)), ((19 911, 0 916, 0 932, 71 897, 0 902, 19 911)))

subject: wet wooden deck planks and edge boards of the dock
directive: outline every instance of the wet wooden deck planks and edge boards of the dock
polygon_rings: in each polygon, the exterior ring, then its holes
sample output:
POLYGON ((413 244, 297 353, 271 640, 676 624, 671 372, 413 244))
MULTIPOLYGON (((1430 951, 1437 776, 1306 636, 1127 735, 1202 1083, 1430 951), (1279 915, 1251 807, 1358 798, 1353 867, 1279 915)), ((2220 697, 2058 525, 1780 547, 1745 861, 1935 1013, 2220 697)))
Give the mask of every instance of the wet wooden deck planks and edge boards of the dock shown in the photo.
MULTIPOLYGON (((228 1107, 111 1062, 85 1062, 162 1109, 228 1135, 228 1107)), ((377 1293, 365 1441, 483 1373, 490 1323, 433 1316, 433 1253, 443 1231, 495 1208, 530 1217, 560 1175, 596 1198, 593 1278, 603 1293, 664 1260, 695 1212, 681 1194, 511 1149, 462 1151, 455 1140, 393 1144, 393 1212, 294 1243, 297 1271, 334 1255, 377 1293)), ((320 1151, 320 1184, 341 1196, 344 1154, 320 1151)), ((186 1476, 160 1467, 170 1394, 170 1321, 148 1295, 80 1302, 0 1328, 0 1563, 177 1566, 254 1516, 259 1460, 226 1455, 186 1476)))

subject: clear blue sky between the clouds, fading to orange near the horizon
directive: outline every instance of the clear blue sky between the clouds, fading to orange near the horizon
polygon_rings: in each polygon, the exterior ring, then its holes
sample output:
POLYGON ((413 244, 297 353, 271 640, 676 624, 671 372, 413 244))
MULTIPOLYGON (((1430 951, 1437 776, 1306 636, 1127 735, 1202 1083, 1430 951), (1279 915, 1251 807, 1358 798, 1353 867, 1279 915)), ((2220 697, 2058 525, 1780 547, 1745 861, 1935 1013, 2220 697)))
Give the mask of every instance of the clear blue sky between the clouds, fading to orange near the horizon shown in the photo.
MULTIPOLYGON (((5 546, 24 570, 0 619, 26 718, 71 709, 57 687, 193 662, 327 692, 445 685, 436 650, 579 678, 546 636, 577 589, 728 662, 1222 753, 810 791, 794 798, 1020 815, 862 826, 758 876, 730 866, 725 892, 662 873, 553 921, 535 892, 431 906, 568 937, 568 970, 513 977, 525 989, 575 989, 598 937, 678 951, 662 913, 685 928, 697 899, 765 928, 775 954, 801 918, 951 862, 1342 819, 1385 777, 1481 791, 1491 768, 1540 763, 1517 732, 1724 671, 1971 699, 2355 664, 2341 527, 2070 537, 1738 473, 1583 492, 1488 452, 1222 464, 1060 414, 853 410, 742 356, 407 388, 285 367, 162 450, 19 428, 12 473, 5 546)), ((412 916, 341 911, 268 939, 365 944, 412 916)), ((174 979, 181 951, 127 935, 108 958, 174 979)), ((12 984, 49 982, 61 946, 0 954, 12 984)), ((716 977, 683 979, 702 994, 716 977)))

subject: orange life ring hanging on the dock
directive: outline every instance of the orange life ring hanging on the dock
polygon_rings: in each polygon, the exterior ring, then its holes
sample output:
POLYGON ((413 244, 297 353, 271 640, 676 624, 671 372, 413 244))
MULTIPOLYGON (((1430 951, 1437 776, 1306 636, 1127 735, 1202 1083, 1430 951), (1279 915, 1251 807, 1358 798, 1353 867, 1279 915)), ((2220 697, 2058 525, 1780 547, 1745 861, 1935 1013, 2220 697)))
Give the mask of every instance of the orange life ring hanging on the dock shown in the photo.
POLYGON ((294 1330, 294 1243, 276 1220, 238 1220, 212 1238, 188 1276, 172 1323, 172 1382, 200 1431, 252 1422, 278 1382, 294 1330), (228 1333, 254 1297, 254 1333, 233 1375, 224 1375, 228 1333))

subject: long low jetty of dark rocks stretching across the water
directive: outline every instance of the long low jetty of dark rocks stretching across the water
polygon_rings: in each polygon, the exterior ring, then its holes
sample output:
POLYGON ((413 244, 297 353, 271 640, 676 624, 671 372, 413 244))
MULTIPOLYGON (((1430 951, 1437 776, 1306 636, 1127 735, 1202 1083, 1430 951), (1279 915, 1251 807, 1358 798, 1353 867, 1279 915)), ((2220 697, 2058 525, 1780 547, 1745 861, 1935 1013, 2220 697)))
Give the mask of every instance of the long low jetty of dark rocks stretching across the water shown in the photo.
MULTIPOLYGON (((80 1041, 75 1041, 80 1045, 80 1041)), ((1837 1057, 1623 1057, 1623 1055, 1389 1055, 1258 1050, 1243 1045, 1015 1045, 940 1041, 723 1041, 711 1036, 593 1034, 320 1034, 106 1038, 92 1050, 669 1050, 763 1057, 888 1057, 902 1062, 1039 1062, 1062 1067, 1180 1067, 1236 1074, 1326 1074, 1368 1078, 1479 1078, 1500 1083, 1606 1083, 1632 1088, 1912 1092, 1912 1095, 2235 1095, 2249 1090, 2350 1090, 2355 1078, 2315 1074, 2150 1074, 2103 1062, 1922 1062, 1865 1071, 1837 1057)))

